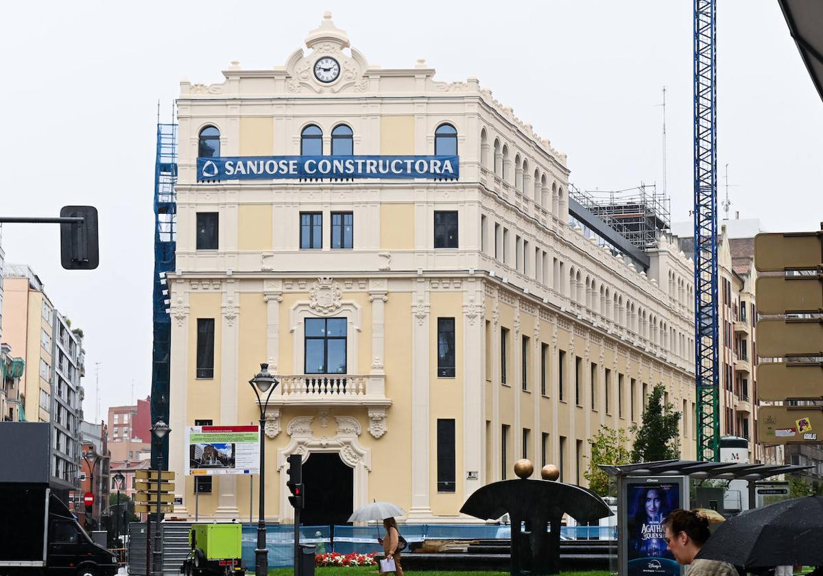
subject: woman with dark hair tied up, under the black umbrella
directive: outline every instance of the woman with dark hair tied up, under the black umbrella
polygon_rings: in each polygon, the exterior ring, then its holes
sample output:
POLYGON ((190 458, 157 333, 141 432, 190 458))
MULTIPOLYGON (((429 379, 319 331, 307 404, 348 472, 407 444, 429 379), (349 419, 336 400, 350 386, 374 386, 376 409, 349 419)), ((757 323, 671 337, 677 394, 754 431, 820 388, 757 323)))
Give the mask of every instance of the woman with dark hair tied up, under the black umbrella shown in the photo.
POLYGON ((709 518, 694 510, 672 510, 665 520, 667 548, 677 564, 690 564, 689 576, 737 576, 737 569, 728 562, 695 559, 709 540, 709 518))

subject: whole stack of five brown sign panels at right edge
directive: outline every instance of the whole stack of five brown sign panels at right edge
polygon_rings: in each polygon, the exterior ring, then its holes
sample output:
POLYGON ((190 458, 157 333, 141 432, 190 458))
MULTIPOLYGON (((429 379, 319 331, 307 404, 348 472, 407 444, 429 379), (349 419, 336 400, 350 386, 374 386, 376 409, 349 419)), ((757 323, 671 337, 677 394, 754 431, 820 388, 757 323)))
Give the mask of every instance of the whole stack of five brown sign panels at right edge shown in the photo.
POLYGON ((757 355, 761 406, 757 433, 764 444, 821 444, 823 406, 823 225, 820 232, 755 237, 757 355), (818 439, 818 434, 820 434, 818 439))

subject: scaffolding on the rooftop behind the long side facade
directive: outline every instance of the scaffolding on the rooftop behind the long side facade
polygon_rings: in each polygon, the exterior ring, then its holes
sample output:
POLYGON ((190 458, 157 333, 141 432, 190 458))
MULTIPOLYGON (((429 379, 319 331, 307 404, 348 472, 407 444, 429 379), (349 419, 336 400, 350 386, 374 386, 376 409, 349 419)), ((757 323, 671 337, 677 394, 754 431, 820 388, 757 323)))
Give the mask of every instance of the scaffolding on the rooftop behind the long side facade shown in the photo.
POLYGON ((603 192, 570 186, 570 196, 641 250, 657 248, 670 227, 671 204, 654 184, 603 192))

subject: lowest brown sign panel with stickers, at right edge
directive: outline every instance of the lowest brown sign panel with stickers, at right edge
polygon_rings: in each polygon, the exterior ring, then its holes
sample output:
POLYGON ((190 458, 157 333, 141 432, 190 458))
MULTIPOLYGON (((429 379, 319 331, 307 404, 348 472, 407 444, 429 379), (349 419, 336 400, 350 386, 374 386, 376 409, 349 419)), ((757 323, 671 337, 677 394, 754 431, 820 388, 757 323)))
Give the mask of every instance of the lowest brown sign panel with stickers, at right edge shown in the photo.
POLYGON ((823 406, 760 406, 757 437, 767 445, 820 444, 823 406))

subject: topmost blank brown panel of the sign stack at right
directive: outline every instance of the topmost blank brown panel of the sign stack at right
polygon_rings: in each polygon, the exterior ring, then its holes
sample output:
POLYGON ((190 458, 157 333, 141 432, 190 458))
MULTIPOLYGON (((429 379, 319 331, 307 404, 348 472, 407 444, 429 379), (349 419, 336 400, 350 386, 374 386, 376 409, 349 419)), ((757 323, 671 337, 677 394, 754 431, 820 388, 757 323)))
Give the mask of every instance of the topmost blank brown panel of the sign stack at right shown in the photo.
POLYGON ((809 269, 821 263, 821 232, 759 234, 755 236, 757 272, 809 269))

